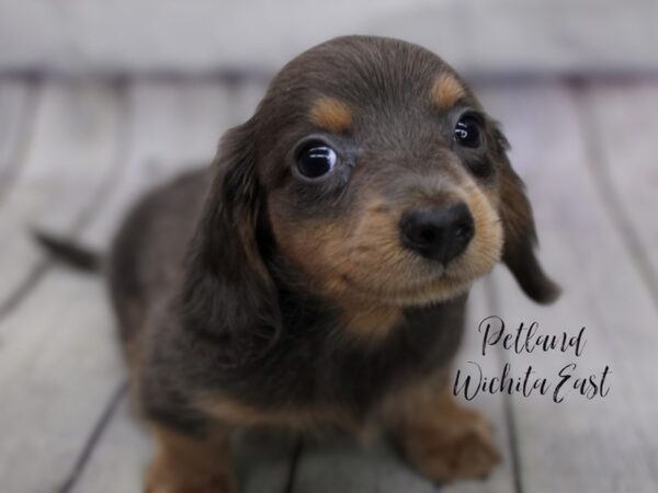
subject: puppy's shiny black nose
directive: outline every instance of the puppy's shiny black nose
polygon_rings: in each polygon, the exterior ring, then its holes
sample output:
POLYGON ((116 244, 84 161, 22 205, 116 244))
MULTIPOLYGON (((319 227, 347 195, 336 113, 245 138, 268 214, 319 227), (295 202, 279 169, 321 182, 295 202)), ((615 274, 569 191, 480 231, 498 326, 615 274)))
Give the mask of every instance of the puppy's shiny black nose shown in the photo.
POLYGON ((475 234, 473 216, 463 203, 405 213, 400 229, 405 246, 443 263, 464 252, 475 234))

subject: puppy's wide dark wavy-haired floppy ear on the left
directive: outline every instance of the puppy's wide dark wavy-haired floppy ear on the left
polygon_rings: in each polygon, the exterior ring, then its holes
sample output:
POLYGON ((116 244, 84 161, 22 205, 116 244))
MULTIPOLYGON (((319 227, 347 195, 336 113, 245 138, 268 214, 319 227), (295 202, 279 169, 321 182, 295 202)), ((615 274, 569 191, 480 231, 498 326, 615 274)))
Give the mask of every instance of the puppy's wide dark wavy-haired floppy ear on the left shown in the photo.
POLYGON ((253 146, 253 121, 222 139, 182 299, 185 323, 218 339, 228 364, 253 359, 280 326, 276 290, 258 243, 264 215, 253 146))

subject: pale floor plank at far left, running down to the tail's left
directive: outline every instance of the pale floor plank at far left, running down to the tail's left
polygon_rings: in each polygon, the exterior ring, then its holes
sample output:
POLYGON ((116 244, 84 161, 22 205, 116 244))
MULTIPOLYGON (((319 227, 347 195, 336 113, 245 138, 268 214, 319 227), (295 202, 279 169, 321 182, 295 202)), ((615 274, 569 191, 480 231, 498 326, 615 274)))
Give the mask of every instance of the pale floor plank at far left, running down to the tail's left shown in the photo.
POLYGON ((81 226, 114 172, 121 115, 109 85, 48 83, 36 110, 21 174, 0 209, 0 306, 44 260, 31 226, 81 226))

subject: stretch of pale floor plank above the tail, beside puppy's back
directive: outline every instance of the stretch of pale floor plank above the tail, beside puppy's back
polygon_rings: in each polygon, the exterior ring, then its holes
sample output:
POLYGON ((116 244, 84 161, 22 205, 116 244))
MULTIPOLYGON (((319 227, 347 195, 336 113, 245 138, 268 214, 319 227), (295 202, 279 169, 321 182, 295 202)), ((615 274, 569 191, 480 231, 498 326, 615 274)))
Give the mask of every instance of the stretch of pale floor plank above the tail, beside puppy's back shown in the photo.
POLYGON ((138 81, 129 90, 132 114, 125 173, 106 206, 82 234, 104 250, 134 202, 173 175, 207 165, 228 127, 230 101, 216 82, 181 84, 138 81))

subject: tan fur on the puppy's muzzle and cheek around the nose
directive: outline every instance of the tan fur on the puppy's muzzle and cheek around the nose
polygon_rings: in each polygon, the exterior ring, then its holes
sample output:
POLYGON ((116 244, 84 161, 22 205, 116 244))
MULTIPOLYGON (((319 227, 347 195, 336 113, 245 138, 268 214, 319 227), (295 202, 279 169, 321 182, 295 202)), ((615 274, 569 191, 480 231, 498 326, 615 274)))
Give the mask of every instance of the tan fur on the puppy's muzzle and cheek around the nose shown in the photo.
MULTIPOLYGON (((433 194, 436 194, 435 190, 433 194)), ((333 298, 339 306, 348 307, 348 313, 352 311, 349 307, 355 303, 400 308, 454 298, 466 291, 476 276, 492 268, 497 259, 481 265, 476 260, 485 260, 486 255, 477 259, 465 255, 455 263, 450 276, 428 273, 423 260, 401 248, 399 241, 399 214, 411 206, 413 200, 388 206, 374 197, 364 199, 361 210, 331 223, 311 222, 300 228, 276 217, 271 220, 277 243, 305 270, 311 283, 308 289, 333 298), (300 234, 302 230, 304 234, 300 234)), ((496 222, 495 219, 491 222, 496 222)), ((485 244, 480 246, 472 251, 487 249, 485 244)), ((355 317, 353 334, 370 334, 372 339, 372 335, 387 333, 371 332, 370 324, 364 322, 373 319, 366 314, 370 310, 363 311, 365 313, 355 317)), ((383 311, 374 318, 381 323, 390 314, 383 311)), ((395 318, 389 320, 392 323, 385 328, 394 326, 395 318)))

